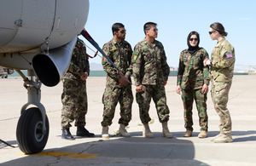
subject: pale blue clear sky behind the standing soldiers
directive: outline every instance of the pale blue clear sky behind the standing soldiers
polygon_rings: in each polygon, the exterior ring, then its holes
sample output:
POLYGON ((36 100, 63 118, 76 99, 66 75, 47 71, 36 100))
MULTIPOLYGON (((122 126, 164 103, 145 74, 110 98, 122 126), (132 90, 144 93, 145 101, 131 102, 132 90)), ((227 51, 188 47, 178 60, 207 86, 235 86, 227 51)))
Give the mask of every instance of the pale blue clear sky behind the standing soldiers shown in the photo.
MULTIPOLYGON (((90 0, 84 27, 102 48, 113 38, 113 23, 120 22, 125 25, 125 40, 134 48, 145 37, 144 24, 155 22, 159 29, 156 40, 164 45, 167 63, 177 68, 180 53, 188 48, 189 32, 199 32, 199 46, 210 55, 217 41, 212 41, 208 31, 212 23, 220 22, 236 51, 235 69, 256 69, 255 7, 255 0, 90 0)), ((93 55, 90 49, 87 48, 88 53, 93 55)), ((90 63, 101 64, 101 60, 96 56, 90 63)))

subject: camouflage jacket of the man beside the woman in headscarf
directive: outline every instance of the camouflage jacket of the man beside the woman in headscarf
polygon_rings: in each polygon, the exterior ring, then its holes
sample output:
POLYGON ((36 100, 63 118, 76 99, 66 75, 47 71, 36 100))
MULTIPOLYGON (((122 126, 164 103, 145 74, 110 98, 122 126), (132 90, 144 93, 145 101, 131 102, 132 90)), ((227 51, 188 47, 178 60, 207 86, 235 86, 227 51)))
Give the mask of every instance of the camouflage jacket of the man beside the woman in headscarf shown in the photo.
POLYGON ((137 43, 132 56, 132 68, 135 85, 156 85, 168 80, 170 67, 166 62, 164 46, 154 40, 152 46, 146 38, 137 43))

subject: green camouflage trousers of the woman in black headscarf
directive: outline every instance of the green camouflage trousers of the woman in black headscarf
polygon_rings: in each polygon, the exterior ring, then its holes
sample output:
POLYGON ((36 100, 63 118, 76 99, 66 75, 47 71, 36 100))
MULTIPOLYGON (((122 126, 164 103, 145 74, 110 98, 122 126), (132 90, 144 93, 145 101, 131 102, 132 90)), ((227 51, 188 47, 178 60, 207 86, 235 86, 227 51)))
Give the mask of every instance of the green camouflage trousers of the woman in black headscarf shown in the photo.
POLYGON ((184 107, 184 121, 185 129, 193 131, 193 101, 197 108, 199 125, 201 131, 208 130, 208 116, 207 116, 207 94, 203 94, 201 89, 182 90, 182 100, 184 107))

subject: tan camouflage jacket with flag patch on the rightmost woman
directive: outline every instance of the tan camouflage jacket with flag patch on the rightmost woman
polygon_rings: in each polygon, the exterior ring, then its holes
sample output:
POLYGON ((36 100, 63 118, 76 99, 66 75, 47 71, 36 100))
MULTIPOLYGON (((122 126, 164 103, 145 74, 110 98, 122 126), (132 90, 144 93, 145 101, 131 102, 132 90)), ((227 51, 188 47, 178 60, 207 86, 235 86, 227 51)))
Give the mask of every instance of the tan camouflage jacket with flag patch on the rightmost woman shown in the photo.
POLYGON ((233 46, 224 38, 212 50, 211 59, 211 79, 219 82, 230 82, 236 60, 233 46))

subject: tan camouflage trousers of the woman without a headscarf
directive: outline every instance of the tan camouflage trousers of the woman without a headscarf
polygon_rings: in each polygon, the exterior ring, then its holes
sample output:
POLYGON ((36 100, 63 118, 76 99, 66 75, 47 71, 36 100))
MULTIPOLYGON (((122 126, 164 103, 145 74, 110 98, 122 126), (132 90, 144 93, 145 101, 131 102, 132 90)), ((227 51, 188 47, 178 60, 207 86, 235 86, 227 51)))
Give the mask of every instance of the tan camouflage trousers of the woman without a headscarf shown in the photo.
POLYGON ((229 92, 232 82, 216 82, 212 80, 212 102, 215 108, 215 111, 218 113, 220 118, 219 129, 222 134, 231 133, 231 117, 230 112, 227 108, 229 100, 229 92))

